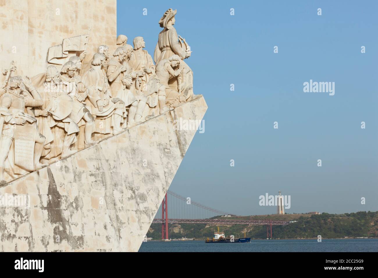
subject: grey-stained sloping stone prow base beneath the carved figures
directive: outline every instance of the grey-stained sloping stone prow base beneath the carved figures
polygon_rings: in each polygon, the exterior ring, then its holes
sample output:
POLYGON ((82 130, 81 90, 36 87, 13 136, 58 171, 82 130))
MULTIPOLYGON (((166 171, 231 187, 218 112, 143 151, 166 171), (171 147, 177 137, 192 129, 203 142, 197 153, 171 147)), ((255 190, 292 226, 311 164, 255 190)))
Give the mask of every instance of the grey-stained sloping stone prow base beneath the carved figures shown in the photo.
POLYGON ((196 130, 203 96, 21 177, 0 196, 0 251, 138 251, 196 130), (3 198, 4 200, 4 198, 3 198))

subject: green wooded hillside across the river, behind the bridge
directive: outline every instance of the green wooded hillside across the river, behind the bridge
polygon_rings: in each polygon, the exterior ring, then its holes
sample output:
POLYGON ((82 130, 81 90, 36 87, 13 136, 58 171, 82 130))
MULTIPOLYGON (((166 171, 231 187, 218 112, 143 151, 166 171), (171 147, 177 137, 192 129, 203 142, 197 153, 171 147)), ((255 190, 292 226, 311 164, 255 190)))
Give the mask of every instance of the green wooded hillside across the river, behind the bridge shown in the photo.
MULTIPOLYGON (((212 219, 225 219, 216 216, 212 219)), ((287 226, 273 225, 274 239, 296 239, 296 238, 345 238, 345 237, 375 237, 378 230, 378 211, 359 211, 357 213, 344 214, 272 214, 256 216, 235 216, 227 219, 239 220, 282 220, 297 221, 287 226), (370 235, 368 233, 370 232, 370 235)), ((236 238, 244 236, 253 239, 266 238, 266 225, 218 225, 226 236, 234 235, 236 238)), ((169 238, 212 238, 217 225, 214 224, 169 224, 169 238)), ((147 237, 161 239, 161 224, 152 224, 147 237)))

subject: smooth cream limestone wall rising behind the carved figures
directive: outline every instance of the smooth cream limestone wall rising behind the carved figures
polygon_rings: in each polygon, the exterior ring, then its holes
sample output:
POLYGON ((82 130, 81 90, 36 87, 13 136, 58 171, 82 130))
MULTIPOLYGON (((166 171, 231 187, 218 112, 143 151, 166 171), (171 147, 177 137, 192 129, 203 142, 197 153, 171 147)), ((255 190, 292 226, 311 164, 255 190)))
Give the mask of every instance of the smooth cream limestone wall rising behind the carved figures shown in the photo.
MULTIPOLYGON (((116 0, 0 0, 0 70, 15 61, 17 74, 29 76, 47 68, 49 47, 64 38, 88 33, 88 62, 101 44, 116 47, 116 0)), ((0 75, 0 81, 5 79, 0 75)))

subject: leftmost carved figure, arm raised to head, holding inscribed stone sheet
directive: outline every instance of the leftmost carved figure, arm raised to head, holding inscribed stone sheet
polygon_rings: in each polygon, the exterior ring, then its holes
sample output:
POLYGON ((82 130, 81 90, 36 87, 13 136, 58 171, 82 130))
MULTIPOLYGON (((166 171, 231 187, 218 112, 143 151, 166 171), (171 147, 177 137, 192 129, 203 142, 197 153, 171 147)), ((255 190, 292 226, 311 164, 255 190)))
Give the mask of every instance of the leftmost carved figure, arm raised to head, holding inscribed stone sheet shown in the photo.
POLYGON ((9 80, 9 90, 0 99, 0 183, 4 183, 4 171, 15 179, 47 166, 39 162, 45 137, 37 129, 37 119, 25 110, 42 105, 28 77, 9 80))

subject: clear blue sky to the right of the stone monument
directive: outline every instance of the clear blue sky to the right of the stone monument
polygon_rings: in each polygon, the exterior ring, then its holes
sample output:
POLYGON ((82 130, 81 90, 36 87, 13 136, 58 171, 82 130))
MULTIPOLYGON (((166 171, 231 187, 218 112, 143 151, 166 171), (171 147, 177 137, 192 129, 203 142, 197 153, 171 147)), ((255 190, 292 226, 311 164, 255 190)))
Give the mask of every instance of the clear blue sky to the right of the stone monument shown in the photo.
POLYGON ((378 210, 376 1, 118 0, 117 34, 153 56, 168 8, 209 107, 171 191, 239 215, 275 213, 259 196, 279 190, 288 213, 378 210), (310 79, 335 95, 304 93, 310 79))

